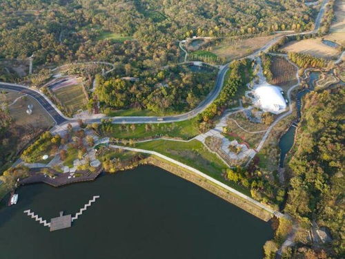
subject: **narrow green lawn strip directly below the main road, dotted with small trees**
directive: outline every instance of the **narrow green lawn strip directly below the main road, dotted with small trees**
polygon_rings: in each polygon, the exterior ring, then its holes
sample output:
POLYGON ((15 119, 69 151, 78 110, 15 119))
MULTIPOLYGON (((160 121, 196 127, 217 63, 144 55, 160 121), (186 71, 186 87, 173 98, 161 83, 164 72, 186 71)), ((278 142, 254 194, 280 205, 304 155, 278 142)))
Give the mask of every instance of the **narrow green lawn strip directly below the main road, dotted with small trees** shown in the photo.
POLYGON ((110 129, 106 129, 108 126, 99 126, 98 131, 101 135, 127 140, 150 137, 177 137, 188 140, 199 134, 194 122, 195 118, 184 122, 148 124, 148 126, 146 124, 111 124, 110 129))

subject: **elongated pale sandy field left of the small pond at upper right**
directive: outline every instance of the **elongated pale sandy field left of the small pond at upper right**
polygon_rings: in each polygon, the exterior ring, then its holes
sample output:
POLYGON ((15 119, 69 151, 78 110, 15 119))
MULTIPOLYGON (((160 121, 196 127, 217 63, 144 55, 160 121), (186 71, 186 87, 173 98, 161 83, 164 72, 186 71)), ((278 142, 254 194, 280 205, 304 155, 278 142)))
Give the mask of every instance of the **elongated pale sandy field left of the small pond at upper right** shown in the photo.
POLYGON ((321 38, 304 39, 302 41, 291 41, 282 50, 286 52, 299 52, 324 59, 336 59, 340 51, 336 48, 326 46, 321 38))

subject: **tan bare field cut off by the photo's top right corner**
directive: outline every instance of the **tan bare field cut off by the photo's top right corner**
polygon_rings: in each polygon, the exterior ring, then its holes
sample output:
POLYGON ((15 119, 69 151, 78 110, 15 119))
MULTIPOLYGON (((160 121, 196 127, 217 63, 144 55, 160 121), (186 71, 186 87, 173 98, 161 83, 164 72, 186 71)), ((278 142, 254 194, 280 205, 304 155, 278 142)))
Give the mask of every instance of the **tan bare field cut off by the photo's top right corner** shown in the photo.
POLYGON ((335 21, 331 25, 330 34, 325 39, 335 41, 345 46, 345 2, 337 0, 335 3, 335 21))

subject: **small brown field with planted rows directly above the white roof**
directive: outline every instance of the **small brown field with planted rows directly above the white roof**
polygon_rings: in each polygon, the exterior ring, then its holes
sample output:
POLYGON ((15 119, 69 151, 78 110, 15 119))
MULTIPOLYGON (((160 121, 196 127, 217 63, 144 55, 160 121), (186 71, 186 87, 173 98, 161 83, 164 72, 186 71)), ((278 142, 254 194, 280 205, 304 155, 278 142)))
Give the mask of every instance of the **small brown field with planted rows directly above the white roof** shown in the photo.
POLYGON ((283 88, 284 86, 289 88, 290 86, 297 84, 297 70, 295 66, 290 64, 286 59, 284 59, 284 57, 273 57, 270 70, 273 73, 273 79, 269 82, 270 84, 281 86, 283 88))

